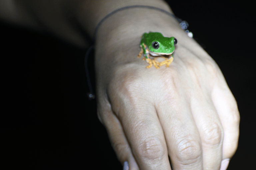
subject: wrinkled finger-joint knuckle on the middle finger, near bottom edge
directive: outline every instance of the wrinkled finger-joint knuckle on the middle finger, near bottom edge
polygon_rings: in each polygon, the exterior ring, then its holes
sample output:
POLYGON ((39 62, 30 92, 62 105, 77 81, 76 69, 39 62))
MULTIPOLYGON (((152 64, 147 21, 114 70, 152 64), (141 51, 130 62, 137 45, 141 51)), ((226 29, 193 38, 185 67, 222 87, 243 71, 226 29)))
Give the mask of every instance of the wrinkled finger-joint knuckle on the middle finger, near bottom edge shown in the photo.
POLYGON ((192 164, 202 155, 201 145, 193 136, 185 136, 178 143, 177 158, 183 164, 192 164))

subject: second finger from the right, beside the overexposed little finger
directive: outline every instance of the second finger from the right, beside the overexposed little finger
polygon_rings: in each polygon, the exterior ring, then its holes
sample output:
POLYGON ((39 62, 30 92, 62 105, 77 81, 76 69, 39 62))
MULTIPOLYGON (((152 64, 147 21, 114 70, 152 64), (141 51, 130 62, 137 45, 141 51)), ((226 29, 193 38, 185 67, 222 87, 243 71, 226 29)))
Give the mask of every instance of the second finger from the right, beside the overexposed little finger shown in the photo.
POLYGON ((192 99, 191 108, 199 129, 204 169, 219 170, 222 160, 224 130, 215 107, 208 99, 192 99))

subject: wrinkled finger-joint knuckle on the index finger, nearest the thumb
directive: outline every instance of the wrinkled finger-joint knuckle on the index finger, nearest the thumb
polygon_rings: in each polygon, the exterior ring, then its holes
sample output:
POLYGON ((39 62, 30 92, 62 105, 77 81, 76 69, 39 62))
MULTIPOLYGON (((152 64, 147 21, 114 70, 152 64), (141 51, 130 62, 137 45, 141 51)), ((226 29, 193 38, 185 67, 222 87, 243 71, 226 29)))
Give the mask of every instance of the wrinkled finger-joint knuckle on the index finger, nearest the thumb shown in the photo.
POLYGON ((147 160, 161 159, 167 154, 163 142, 154 136, 145 138, 138 148, 139 157, 147 160))

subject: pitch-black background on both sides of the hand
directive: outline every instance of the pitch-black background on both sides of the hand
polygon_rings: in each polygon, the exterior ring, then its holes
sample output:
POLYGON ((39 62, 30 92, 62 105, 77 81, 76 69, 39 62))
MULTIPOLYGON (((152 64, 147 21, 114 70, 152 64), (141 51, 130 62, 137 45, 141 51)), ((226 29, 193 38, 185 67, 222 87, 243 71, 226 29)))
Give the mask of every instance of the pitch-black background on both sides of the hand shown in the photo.
MULTIPOLYGON (((252 5, 222 1, 169 4, 217 62, 237 100, 239 146, 228 170, 251 169, 256 158, 252 5)), ((3 139, 5 157, 13 162, 9 166, 122 169, 97 119, 96 101, 86 97, 86 49, 49 34, 0 24, 3 131, 8 136, 3 139)), ((94 85, 93 52, 88 63, 94 85)))

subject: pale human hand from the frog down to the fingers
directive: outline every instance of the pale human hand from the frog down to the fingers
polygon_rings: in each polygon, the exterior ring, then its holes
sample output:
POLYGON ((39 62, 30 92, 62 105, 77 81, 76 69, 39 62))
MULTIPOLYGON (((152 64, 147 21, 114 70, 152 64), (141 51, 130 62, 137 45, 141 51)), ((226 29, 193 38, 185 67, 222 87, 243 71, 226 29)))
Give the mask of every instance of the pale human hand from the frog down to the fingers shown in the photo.
MULTIPOLYGON (((192 39, 177 40, 170 67, 146 69, 141 59, 96 66, 98 117, 129 169, 171 169, 169 155, 174 170, 219 170, 236 151, 239 112, 219 67, 192 39)), ((136 58, 138 44, 122 46, 106 56, 136 58)))

